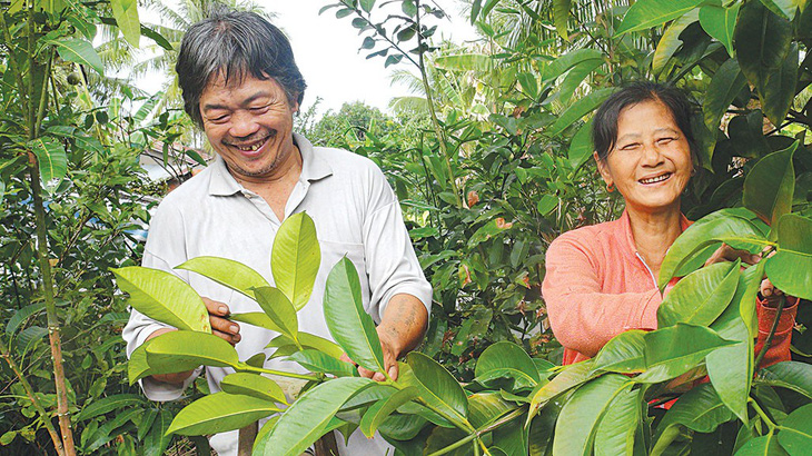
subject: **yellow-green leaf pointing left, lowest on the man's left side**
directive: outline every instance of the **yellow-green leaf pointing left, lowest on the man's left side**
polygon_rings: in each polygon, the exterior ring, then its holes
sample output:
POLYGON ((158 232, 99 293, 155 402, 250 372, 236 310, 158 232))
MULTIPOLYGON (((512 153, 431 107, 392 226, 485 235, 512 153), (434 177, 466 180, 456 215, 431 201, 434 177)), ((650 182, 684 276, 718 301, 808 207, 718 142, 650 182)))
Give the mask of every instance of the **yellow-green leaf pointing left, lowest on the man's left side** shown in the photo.
POLYGON ((206 435, 239 429, 279 412, 271 400, 230 393, 215 393, 195 400, 175 416, 168 433, 206 435))

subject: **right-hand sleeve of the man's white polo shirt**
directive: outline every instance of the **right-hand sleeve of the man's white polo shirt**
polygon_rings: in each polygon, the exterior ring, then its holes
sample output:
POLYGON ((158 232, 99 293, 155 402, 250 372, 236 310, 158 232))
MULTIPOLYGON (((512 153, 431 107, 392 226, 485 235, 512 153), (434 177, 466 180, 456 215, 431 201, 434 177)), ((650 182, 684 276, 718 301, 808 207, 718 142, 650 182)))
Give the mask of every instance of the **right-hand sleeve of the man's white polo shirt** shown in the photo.
POLYGON ((432 314, 432 285, 423 274, 403 221, 400 205, 384 174, 373 167, 369 207, 364 219, 364 254, 369 277, 369 313, 380 321, 397 294, 416 297, 432 314))

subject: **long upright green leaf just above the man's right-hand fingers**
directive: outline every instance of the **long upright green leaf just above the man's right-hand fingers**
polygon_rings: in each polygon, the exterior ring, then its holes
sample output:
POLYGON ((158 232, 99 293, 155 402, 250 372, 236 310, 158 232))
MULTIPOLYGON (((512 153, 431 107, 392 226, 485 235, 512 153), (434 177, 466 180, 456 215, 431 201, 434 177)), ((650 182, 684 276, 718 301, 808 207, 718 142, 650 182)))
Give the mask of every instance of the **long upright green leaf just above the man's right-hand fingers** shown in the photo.
POLYGON ((327 276, 324 314, 333 338, 353 361, 376 373, 386 370, 375 323, 364 310, 358 272, 347 257, 327 276))

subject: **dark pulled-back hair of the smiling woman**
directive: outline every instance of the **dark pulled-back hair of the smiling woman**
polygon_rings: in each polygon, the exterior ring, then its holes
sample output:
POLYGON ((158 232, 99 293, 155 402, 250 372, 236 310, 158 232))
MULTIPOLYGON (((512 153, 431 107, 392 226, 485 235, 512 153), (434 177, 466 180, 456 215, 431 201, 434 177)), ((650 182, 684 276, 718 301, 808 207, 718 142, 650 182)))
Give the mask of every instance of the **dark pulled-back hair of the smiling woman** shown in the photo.
POLYGON ((691 101, 682 90, 651 81, 632 82, 612 93, 606 101, 597 108, 595 118, 592 120, 592 141, 597 152, 597 158, 605 161, 617 141, 617 120, 624 109, 643 101, 660 101, 665 106, 674 122, 682 130, 691 148, 691 157, 694 163, 699 165, 697 143, 691 128, 693 109, 691 101))

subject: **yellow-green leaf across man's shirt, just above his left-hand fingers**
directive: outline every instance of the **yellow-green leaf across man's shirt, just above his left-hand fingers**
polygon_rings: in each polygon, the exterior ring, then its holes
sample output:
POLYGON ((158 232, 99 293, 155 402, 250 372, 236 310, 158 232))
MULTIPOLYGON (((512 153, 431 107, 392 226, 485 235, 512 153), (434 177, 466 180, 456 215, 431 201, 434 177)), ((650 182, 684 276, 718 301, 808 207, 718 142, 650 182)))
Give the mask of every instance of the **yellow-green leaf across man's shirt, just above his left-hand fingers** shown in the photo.
POLYGON ((269 287, 268 281, 248 266, 228 258, 197 257, 175 269, 185 269, 197 272, 204 277, 228 287, 235 291, 254 299, 252 288, 269 287))

